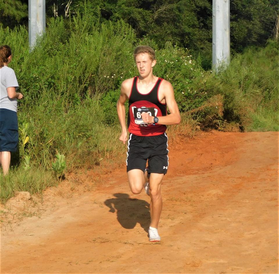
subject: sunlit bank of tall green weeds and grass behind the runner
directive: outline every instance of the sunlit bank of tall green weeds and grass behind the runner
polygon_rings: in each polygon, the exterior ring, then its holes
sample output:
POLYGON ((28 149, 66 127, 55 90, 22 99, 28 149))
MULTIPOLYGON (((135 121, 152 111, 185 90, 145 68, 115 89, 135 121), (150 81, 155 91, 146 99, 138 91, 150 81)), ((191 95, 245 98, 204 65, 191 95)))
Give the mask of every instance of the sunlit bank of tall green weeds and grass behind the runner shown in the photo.
POLYGON ((214 74, 189 49, 170 41, 159 45, 149 36, 139 39, 124 20, 104 20, 100 8, 84 8, 70 19, 50 18, 32 52, 24 26, 0 27, 0 44, 12 48, 10 66, 24 94, 19 151, 13 155, 19 167, 9 179, 0 176, 1 199, 16 190, 40 192, 55 183, 49 179, 53 173, 61 179, 65 168, 92 168, 124 155, 115 104, 123 79, 137 75, 132 53, 138 44, 156 50, 154 73, 174 87, 183 122, 176 134, 169 127, 170 142, 188 134, 186 124, 193 132, 279 130, 274 41, 236 55, 226 70, 214 74))

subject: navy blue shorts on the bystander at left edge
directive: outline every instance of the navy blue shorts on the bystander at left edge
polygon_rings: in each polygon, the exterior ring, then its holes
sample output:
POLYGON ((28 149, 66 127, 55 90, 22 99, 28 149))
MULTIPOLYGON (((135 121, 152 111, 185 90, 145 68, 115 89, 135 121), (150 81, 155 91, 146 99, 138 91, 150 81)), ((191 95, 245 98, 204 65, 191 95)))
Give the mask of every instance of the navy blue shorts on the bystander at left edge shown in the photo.
POLYGON ((17 151, 18 125, 15 111, 0 108, 0 152, 17 151))

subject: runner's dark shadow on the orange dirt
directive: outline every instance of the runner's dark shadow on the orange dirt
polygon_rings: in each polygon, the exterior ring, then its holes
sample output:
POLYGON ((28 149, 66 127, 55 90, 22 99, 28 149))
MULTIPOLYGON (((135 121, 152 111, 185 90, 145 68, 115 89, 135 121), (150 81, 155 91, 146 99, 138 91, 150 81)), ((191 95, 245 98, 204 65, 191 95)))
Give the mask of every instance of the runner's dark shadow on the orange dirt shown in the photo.
POLYGON ((148 233, 150 224, 149 203, 131 199, 126 193, 115 193, 116 198, 107 199, 104 204, 109 212, 117 211, 117 220, 126 229, 133 229, 137 223, 148 233))

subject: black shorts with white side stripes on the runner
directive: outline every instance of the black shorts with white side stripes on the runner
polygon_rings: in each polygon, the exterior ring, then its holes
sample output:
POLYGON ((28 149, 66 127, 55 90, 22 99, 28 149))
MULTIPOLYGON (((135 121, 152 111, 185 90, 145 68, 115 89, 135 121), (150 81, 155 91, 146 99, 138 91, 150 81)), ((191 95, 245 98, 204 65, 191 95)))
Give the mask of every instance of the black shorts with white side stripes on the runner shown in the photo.
POLYGON ((127 172, 141 169, 143 172, 148 160, 148 173, 166 174, 169 166, 167 134, 157 136, 129 135, 127 151, 127 172))

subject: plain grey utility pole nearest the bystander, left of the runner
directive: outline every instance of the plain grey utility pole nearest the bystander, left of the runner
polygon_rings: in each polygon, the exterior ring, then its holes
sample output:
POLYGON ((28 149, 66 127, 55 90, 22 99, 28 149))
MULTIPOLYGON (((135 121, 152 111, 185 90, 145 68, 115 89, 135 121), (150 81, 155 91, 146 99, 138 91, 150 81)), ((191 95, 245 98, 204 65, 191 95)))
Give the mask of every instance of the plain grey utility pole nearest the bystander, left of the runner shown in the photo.
POLYGON ((46 29, 46 1, 28 0, 28 16, 29 47, 32 50, 37 37, 46 29))

